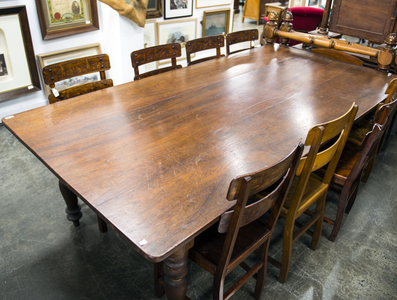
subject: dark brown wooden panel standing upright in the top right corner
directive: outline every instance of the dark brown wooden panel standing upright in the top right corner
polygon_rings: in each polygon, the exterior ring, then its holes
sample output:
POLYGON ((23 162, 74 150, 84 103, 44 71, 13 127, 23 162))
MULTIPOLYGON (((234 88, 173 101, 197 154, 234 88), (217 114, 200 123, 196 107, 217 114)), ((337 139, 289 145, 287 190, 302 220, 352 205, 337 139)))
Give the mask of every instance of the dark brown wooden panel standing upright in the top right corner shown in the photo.
POLYGON ((333 0, 329 30, 382 44, 397 32, 396 16, 396 0, 333 0))

